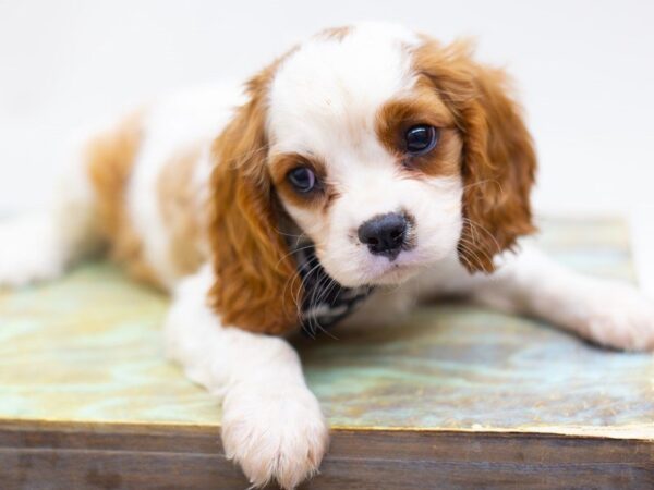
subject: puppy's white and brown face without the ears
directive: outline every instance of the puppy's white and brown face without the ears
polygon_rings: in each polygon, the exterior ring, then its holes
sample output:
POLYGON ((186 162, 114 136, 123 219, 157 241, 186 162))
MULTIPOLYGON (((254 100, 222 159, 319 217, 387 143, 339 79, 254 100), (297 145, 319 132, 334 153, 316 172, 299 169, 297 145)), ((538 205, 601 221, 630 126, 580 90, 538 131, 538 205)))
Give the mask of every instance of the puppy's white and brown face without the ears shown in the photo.
POLYGON ((347 286, 393 284, 456 250, 462 138, 410 33, 322 35, 279 66, 268 164, 284 209, 347 286))

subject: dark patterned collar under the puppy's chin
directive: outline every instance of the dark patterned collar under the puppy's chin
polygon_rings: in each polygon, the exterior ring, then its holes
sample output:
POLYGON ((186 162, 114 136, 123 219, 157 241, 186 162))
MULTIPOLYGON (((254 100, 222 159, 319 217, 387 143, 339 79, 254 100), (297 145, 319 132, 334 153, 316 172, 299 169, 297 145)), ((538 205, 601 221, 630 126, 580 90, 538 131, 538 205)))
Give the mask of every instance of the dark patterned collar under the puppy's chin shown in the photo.
POLYGON ((352 314, 373 287, 342 286, 327 274, 311 242, 293 245, 304 292, 300 307, 300 327, 304 334, 314 338, 318 331, 326 331, 352 314))

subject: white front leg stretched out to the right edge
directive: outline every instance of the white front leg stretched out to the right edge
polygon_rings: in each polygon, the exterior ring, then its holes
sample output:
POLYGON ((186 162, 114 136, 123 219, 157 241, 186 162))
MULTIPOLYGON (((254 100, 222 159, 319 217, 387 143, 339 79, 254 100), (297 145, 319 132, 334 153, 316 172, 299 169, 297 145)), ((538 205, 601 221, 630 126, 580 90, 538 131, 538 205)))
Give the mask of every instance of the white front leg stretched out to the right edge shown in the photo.
POLYGON ((494 275, 471 282, 484 304, 543 318, 602 345, 654 348, 654 301, 629 284, 568 270, 532 247, 508 254, 494 275))

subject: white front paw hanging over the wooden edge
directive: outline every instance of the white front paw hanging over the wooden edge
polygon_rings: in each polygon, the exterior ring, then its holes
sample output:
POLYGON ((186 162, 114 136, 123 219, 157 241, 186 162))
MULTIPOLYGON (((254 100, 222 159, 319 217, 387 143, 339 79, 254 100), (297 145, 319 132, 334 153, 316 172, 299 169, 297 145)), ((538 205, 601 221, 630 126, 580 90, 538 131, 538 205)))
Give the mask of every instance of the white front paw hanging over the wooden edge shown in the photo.
POLYGON ((243 384, 223 401, 222 444, 250 482, 293 489, 317 473, 329 443, 317 400, 306 387, 243 384))

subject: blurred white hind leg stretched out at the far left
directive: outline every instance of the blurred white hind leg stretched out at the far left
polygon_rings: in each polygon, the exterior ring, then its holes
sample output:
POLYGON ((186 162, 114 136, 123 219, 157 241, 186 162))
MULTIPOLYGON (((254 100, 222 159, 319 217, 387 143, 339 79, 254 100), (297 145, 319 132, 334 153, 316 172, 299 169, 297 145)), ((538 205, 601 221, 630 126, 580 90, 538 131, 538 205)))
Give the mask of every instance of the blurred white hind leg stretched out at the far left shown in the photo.
POLYGON ((57 278, 97 247, 90 184, 82 161, 70 163, 49 207, 0 220, 0 286, 57 278))

